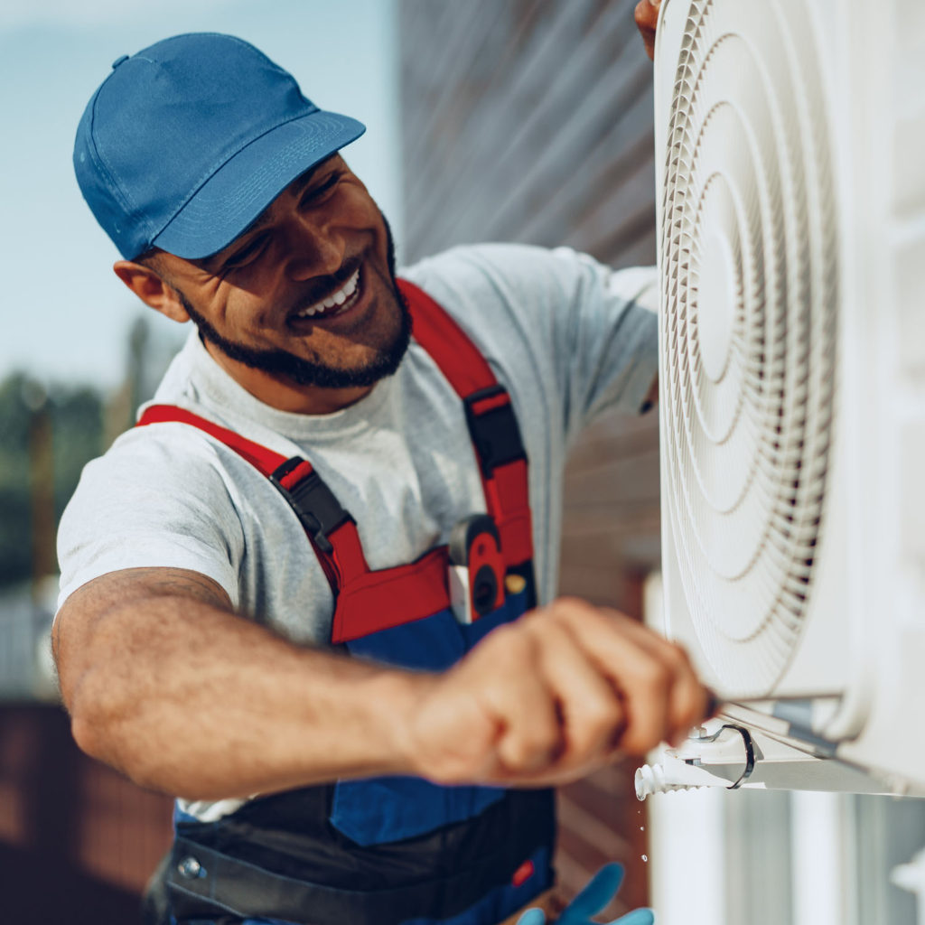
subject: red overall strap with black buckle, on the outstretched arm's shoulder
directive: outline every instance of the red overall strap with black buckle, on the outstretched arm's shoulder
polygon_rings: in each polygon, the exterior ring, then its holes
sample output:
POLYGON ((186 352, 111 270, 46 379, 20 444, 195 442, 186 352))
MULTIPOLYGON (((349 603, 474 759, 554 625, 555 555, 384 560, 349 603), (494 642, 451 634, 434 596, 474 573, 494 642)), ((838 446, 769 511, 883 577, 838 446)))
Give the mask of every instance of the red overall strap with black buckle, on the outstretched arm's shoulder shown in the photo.
MULTIPOLYGON (((314 489, 315 494, 321 493, 322 499, 328 500, 328 507, 331 507, 331 502, 337 504, 321 477, 314 472, 310 462, 298 456, 287 459, 281 453, 267 450, 266 447, 246 437, 241 437, 240 434, 228 430, 227 427, 219 426, 207 418, 176 405, 151 405, 144 410, 136 426, 166 423, 198 427, 210 437, 224 443, 229 450, 234 450, 242 459, 250 462, 255 469, 273 482, 289 501, 290 506, 299 514, 302 526, 305 527, 305 532, 327 576, 327 582, 335 598, 338 597, 340 588, 346 586, 354 578, 369 572, 356 524, 349 514, 330 532, 320 535, 316 529, 317 523, 306 523, 298 503, 306 491, 314 489)), ((339 505, 337 507, 339 508, 339 505)), ((342 509, 340 510, 342 512, 342 509)), ((346 512, 343 513, 346 514, 346 512)))

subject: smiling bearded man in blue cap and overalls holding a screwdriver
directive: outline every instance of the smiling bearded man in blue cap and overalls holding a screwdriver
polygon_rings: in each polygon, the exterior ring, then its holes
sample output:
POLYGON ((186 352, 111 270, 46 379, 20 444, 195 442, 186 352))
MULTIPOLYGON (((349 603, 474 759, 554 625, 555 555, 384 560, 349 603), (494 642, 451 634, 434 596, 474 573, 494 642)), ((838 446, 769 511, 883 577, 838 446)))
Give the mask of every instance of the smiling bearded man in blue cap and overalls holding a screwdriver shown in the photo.
POLYGON ((508 919, 544 788, 706 709, 678 648, 554 599, 563 446, 646 400, 651 272, 496 246, 398 283, 362 131, 213 34, 117 61, 78 131, 118 277, 199 335, 85 471, 54 640, 80 746, 180 797, 179 921, 508 919))

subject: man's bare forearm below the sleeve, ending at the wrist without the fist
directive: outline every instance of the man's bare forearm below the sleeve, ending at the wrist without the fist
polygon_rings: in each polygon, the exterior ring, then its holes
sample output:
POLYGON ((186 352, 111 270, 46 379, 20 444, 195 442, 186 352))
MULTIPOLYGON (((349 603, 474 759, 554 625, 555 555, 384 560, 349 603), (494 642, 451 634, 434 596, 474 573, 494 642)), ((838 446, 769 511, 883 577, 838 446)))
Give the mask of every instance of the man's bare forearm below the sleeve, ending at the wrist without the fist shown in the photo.
POLYGON ((210 799, 407 770, 395 731, 413 675, 294 646, 208 599, 95 610, 79 657, 67 623, 58 634, 62 691, 80 746, 138 783, 210 799))

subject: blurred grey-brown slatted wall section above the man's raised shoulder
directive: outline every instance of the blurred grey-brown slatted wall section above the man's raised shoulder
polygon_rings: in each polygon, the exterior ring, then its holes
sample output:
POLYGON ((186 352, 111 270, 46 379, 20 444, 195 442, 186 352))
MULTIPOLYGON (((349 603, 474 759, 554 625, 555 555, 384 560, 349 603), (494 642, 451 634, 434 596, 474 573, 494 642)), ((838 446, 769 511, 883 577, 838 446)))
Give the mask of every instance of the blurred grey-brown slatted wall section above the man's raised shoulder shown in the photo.
POLYGON ((652 68, 633 3, 401 0, 405 251, 655 259, 652 68))

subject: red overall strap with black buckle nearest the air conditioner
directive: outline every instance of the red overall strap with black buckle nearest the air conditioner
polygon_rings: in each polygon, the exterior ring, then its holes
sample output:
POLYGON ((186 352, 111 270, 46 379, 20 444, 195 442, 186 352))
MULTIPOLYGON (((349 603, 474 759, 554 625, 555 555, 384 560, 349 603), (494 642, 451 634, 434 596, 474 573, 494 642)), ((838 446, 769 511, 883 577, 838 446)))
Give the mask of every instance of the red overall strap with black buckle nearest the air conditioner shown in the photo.
POLYGON ((424 290, 399 280, 413 317, 414 339, 462 399, 475 445, 482 485, 509 566, 533 559, 526 454, 511 396, 499 385, 481 351, 424 290))

